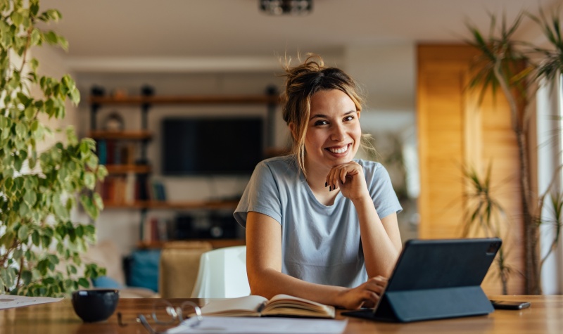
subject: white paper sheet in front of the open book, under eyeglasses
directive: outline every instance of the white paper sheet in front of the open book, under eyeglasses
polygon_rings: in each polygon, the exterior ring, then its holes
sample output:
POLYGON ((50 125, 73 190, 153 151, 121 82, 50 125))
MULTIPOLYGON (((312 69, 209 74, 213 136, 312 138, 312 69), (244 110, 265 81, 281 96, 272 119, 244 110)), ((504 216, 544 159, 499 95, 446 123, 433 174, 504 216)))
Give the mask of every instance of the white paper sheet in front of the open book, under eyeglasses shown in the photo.
POLYGON ((340 334, 346 328, 348 321, 333 319, 296 319, 296 318, 245 318, 204 316, 201 323, 192 317, 175 328, 166 331, 167 334, 202 334, 202 333, 229 333, 229 334, 340 334))

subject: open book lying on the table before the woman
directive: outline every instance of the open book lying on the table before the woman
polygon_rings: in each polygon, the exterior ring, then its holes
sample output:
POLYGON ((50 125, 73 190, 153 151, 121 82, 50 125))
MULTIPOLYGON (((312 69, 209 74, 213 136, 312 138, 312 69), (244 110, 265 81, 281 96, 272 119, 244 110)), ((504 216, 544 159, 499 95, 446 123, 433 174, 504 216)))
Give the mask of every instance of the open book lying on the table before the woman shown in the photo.
POLYGON ((228 300, 214 300, 201 308, 203 316, 299 316, 334 318, 334 307, 289 295, 275 295, 271 300, 250 295, 228 300))

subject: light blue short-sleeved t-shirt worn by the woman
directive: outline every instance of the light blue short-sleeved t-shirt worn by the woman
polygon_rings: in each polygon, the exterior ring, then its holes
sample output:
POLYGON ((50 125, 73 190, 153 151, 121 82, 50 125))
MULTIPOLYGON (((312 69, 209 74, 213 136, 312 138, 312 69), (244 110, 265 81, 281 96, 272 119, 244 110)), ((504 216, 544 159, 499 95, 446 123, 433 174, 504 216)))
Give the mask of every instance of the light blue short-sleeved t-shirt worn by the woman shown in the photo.
MULTIPOLYGON (((364 169, 379 217, 400 212, 386 169, 378 162, 356 161, 364 169)), ((322 205, 293 157, 267 159, 255 167, 234 212, 244 227, 249 211, 266 214, 281 224, 284 274, 348 288, 367 281, 360 224, 352 201, 339 192, 333 205, 322 205)))

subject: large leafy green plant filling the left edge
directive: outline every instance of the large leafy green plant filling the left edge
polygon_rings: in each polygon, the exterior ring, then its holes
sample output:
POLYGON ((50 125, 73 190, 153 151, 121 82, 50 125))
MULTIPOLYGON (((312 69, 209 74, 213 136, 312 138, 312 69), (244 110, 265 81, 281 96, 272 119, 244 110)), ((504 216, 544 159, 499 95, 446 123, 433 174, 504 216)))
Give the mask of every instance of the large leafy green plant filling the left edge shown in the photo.
POLYGON ((67 48, 63 37, 37 27, 61 13, 40 11, 39 0, 14 0, 0 1, 0 15, 0 293, 67 295, 104 272, 82 263, 96 231, 71 221, 70 212, 80 201, 98 216, 103 203, 91 190, 107 172, 95 142, 79 141, 72 128, 65 142, 38 151, 53 134, 46 120, 65 117, 66 98, 80 101, 69 75, 39 76, 30 52, 45 43, 67 48))

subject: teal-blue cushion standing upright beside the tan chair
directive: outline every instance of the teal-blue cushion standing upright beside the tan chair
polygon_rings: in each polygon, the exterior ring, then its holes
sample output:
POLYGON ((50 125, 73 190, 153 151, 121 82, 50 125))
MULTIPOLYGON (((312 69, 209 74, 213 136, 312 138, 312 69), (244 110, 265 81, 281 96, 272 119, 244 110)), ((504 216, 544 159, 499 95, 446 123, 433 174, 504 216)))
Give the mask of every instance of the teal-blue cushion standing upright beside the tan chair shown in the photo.
POLYGON ((136 250, 131 256, 129 285, 158 291, 160 250, 136 250))

